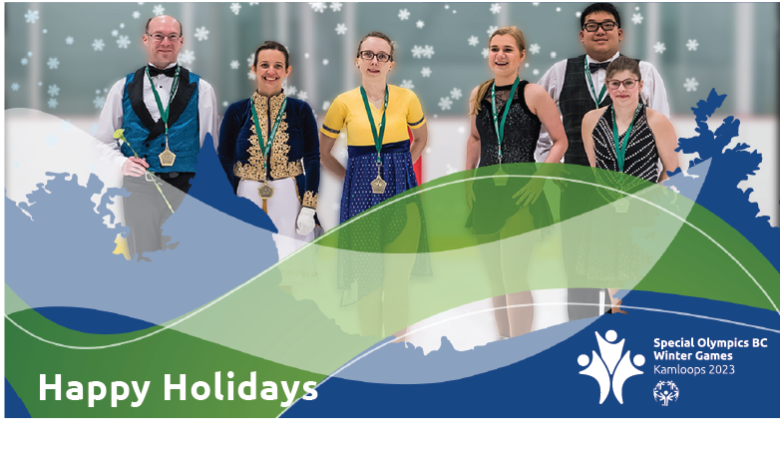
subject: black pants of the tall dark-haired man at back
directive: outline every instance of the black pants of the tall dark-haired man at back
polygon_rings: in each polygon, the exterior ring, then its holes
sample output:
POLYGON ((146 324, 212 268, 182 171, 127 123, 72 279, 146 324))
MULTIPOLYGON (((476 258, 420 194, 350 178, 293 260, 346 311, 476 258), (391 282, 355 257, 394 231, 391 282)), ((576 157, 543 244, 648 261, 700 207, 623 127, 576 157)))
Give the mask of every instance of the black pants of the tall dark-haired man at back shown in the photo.
MULTIPOLYGON (((566 164, 590 167, 587 156, 566 155, 566 164)), ((582 185, 570 184, 568 190, 561 194, 561 222, 573 219, 595 208, 590 197, 593 192, 584 189, 582 185)), ((573 277, 577 274, 577 257, 579 245, 582 242, 582 232, 576 226, 563 224, 563 256, 566 274, 573 277)), ((599 316, 600 290, 585 288, 569 289, 569 320, 582 320, 599 316), (586 305, 579 305, 579 304, 586 305)), ((608 298, 609 296, 607 296, 608 298)), ((607 308, 610 307, 609 302, 607 308)))

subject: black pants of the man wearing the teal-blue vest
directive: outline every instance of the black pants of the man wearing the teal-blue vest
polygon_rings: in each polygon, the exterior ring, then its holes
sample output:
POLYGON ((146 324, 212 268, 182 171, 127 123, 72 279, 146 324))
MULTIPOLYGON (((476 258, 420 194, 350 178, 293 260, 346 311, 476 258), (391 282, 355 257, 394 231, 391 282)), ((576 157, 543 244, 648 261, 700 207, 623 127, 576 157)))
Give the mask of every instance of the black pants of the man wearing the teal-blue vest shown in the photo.
POLYGON ((140 259, 144 252, 165 249, 170 238, 163 237, 162 226, 173 214, 171 208, 178 210, 184 202, 194 176, 194 173, 171 173, 154 177, 170 208, 154 182, 148 181, 149 175, 140 178, 125 176, 124 187, 130 192, 130 196, 124 199, 125 225, 130 228, 127 243, 132 257, 138 255, 140 259))

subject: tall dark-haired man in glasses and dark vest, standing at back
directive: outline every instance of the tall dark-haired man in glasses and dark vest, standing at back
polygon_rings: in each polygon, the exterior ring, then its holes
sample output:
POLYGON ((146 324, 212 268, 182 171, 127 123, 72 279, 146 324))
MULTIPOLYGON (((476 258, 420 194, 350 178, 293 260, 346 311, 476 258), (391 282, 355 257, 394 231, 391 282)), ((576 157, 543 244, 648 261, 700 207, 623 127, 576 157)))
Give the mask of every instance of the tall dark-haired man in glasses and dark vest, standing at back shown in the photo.
MULTIPOLYGON (((582 145, 582 119, 591 110, 612 103, 605 84, 607 66, 620 56, 623 36, 620 13, 611 3, 589 6, 580 16, 580 41, 586 54, 556 63, 539 82, 556 101, 563 116, 563 125, 569 140, 569 149, 564 158, 566 164, 590 166, 582 145)), ((644 81, 641 93, 643 102, 647 107, 668 117, 666 89, 658 71, 644 61, 639 63, 639 70, 644 81)), ((537 160, 544 161, 551 147, 549 135, 542 130, 536 149, 537 160)), ((577 192, 574 189, 564 191, 561 199, 562 219, 570 219, 588 211, 589 201, 582 200, 582 197, 577 196, 577 192)), ((569 257, 569 260, 566 260, 567 273, 572 276, 575 272, 575 261, 571 258, 576 254, 566 248, 576 248, 577 232, 564 230, 564 238, 564 251, 569 257)), ((569 305, 571 320, 599 315, 598 290, 570 289, 569 303, 576 303, 569 305)))

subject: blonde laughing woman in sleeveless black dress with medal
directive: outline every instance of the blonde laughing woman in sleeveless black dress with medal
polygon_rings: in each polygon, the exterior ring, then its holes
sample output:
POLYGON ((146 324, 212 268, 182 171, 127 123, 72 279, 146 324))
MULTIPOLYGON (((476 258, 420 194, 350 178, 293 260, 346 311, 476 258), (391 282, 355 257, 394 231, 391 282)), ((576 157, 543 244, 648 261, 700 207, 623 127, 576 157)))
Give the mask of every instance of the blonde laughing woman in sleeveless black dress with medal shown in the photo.
POLYGON ((490 38, 488 57, 495 79, 475 88, 471 95, 466 168, 489 167, 487 172, 495 176, 467 182, 467 202, 472 209, 467 227, 474 229, 481 245, 496 295, 493 306, 501 338, 531 331, 534 301, 530 291, 505 293, 506 284, 525 282, 531 248, 512 248, 500 241, 551 225, 552 213, 542 193, 543 178, 530 183, 524 178, 502 178, 505 174, 500 164, 534 163, 542 125, 553 140, 546 162, 561 162, 568 148, 555 102, 542 87, 520 80, 525 56, 525 38, 519 29, 497 30, 490 38))

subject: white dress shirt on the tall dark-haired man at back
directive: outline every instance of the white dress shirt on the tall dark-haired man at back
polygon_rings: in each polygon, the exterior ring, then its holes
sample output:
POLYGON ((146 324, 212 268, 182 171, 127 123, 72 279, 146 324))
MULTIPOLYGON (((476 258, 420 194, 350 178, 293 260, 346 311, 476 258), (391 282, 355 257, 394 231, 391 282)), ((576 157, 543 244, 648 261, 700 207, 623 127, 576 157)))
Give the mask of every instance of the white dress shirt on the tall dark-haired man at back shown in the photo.
MULTIPOLYGON (((607 62, 612 62, 619 56, 620 52, 607 60, 607 62)), ((585 59, 589 65, 591 63, 605 63, 597 62, 588 56, 586 56, 585 59)), ((542 80, 539 81, 539 85, 544 87, 544 89, 547 90, 547 93, 549 93, 553 100, 555 100, 555 104, 558 105, 559 110, 559 101, 561 97, 561 91, 563 89, 563 83, 566 79, 567 65, 568 60, 556 63, 552 68, 550 68, 549 71, 547 71, 547 74, 542 77, 542 80)), ((644 88, 642 88, 642 100, 644 101, 645 105, 653 110, 661 112, 668 118, 669 101, 666 98, 666 88, 664 87, 664 81, 661 79, 661 75, 658 74, 658 71, 653 65, 646 61, 639 62, 639 72, 642 74, 642 81, 644 82, 644 88)), ((595 103, 596 95, 594 95, 590 90, 590 83, 587 82, 588 74, 585 73, 583 77, 586 79, 588 91, 590 92, 590 96, 593 98, 593 102, 595 103)), ((599 69, 593 73, 591 77, 593 78, 593 85, 596 88, 596 93, 600 94, 602 88, 604 87, 604 81, 607 78, 607 70, 599 69)), ((609 95, 605 94, 604 96, 609 95)), ((542 132, 539 136, 539 143, 536 147, 536 160, 538 162, 544 162, 544 160, 547 159, 547 154, 550 152, 552 145, 553 143, 550 139, 550 134, 547 132, 547 129, 542 126, 542 132)))

